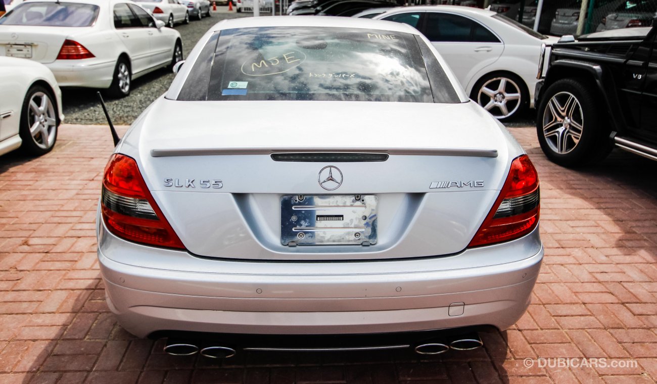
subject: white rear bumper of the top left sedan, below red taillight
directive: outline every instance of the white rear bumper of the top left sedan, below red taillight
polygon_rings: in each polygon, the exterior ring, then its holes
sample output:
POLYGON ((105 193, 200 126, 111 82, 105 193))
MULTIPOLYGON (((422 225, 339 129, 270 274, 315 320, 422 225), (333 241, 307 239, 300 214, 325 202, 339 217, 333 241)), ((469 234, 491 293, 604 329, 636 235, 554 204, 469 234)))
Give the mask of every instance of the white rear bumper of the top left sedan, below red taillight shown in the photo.
POLYGON ((60 87, 109 88, 114 76, 116 61, 107 60, 55 60, 45 64, 60 87))

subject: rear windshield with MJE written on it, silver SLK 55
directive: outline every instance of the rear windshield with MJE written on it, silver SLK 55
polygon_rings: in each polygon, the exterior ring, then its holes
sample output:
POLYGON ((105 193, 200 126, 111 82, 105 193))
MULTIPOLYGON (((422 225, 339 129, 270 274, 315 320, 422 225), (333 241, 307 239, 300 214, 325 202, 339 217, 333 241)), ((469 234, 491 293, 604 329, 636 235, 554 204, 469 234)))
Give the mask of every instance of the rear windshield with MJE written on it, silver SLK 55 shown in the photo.
POLYGON ((438 60, 414 35, 317 27, 221 31, 200 53, 178 99, 459 102, 438 60))

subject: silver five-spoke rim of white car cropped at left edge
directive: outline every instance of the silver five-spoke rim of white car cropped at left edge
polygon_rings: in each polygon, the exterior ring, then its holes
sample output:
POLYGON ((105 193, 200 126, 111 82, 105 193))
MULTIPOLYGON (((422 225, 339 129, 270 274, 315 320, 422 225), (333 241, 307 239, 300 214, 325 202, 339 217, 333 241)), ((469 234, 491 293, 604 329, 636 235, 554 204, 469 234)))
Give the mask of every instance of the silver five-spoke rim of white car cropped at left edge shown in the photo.
POLYGON ((55 106, 50 97, 43 92, 36 92, 28 104, 28 124, 34 143, 42 149, 49 149, 55 144, 57 135, 57 117, 55 106))

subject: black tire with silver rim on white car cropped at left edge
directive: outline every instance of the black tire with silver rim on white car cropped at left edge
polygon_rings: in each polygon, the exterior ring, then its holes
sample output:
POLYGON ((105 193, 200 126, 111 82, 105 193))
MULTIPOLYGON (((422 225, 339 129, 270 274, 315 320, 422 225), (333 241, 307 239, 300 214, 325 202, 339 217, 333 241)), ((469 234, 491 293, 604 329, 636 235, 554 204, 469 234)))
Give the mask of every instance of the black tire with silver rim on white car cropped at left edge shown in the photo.
POLYGON ((57 99, 49 89, 41 85, 32 85, 25 95, 20 110, 20 124, 18 127, 18 135, 22 140, 20 149, 30 156, 47 154, 53 150, 55 142, 57 142, 58 126, 57 99), (39 112, 30 107, 31 101, 39 106, 37 108, 39 112), (45 108, 41 108, 42 106, 45 106, 45 108), (30 130, 32 126, 35 127, 34 135, 30 130))

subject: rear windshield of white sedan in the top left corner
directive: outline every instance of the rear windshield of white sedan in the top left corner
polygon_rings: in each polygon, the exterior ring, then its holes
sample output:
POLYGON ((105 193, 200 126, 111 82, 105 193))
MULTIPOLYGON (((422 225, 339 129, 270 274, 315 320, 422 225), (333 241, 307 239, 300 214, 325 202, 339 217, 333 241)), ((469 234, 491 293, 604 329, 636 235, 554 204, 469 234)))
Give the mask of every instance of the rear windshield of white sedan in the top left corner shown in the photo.
POLYGON ((99 7, 81 3, 22 3, 0 18, 8 26, 88 27, 98 17, 99 7))

